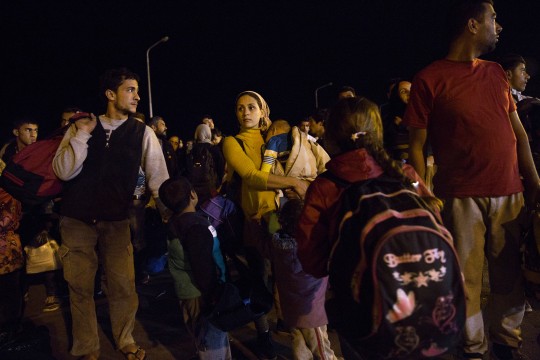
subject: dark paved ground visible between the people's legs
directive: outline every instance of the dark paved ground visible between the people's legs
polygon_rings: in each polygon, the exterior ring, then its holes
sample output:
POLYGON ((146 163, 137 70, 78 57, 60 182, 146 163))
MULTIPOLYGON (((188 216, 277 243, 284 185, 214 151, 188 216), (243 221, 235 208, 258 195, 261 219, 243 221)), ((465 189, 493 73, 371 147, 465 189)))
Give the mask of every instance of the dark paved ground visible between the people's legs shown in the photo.
MULTIPOLYGON (((167 275, 156 276, 152 278, 149 285, 138 286, 138 292, 140 309, 134 337, 147 351, 149 358, 151 360, 191 359, 194 355, 194 348, 182 326, 170 278, 167 275)), ((44 299, 44 286, 31 285, 24 321, 48 327, 53 354, 58 360, 76 359, 69 354, 71 338, 69 305, 66 303, 59 311, 43 313, 44 299)), ((526 314, 523 323, 523 349, 531 359, 539 360, 540 348, 536 337, 540 334, 540 302, 531 301, 531 303, 534 310, 526 314)), ((96 308, 100 325, 101 359, 123 359, 123 356, 115 351, 112 344, 106 299, 98 299, 96 308)), ((250 350, 254 345, 255 336, 255 329, 249 326, 231 333, 231 345, 235 359, 256 359, 250 350)), ((335 333, 330 333, 330 337, 336 354, 340 355, 335 333)), ((279 358, 292 359, 291 341, 288 334, 274 332, 273 339, 277 344, 279 358)))

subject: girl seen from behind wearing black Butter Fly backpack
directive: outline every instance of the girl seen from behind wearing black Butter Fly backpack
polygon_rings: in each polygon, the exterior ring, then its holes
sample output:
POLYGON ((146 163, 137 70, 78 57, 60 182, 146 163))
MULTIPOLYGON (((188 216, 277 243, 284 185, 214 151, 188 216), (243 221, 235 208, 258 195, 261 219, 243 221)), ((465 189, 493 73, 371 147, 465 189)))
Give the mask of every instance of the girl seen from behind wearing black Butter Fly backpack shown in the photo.
POLYGON ((346 359, 434 357, 464 324, 463 283, 441 202, 383 148, 377 105, 342 99, 325 124, 328 171, 296 232, 304 271, 329 275, 330 325, 346 359))

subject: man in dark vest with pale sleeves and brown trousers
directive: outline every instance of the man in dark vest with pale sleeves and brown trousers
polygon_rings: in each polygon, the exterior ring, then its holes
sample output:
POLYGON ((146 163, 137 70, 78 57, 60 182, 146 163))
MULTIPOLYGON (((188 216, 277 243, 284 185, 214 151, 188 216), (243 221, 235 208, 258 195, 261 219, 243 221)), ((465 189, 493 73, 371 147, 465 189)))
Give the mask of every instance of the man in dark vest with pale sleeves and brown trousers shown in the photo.
POLYGON ((132 117, 140 100, 138 82, 127 69, 106 72, 101 77, 105 115, 92 114, 71 125, 53 161, 55 173, 67 182, 60 209, 60 252, 73 319, 71 354, 83 359, 99 357, 93 299, 98 257, 116 347, 126 358, 145 358, 132 337, 138 297, 128 209, 142 167, 148 190, 164 214, 158 189, 168 172, 154 132, 132 117))

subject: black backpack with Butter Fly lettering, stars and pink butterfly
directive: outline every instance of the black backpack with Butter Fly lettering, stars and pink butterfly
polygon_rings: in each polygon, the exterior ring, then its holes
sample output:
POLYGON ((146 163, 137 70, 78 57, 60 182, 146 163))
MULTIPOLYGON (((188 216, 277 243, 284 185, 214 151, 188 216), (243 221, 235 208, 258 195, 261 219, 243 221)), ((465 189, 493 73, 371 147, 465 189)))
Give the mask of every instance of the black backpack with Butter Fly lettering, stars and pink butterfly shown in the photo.
POLYGON ((331 325, 368 359, 420 359, 457 345, 465 324, 463 278, 438 214, 399 179, 350 184, 328 263, 331 325))

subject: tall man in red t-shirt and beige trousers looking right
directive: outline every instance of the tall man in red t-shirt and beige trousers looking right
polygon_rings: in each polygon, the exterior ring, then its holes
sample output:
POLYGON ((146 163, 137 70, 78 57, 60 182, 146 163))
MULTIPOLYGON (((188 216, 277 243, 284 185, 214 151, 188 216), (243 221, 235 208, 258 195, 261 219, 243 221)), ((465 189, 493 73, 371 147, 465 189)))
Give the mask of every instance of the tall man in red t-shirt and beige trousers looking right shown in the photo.
POLYGON ((462 2, 448 14, 448 55, 420 71, 412 84, 404 116, 409 162, 424 176, 429 139, 438 165, 435 195, 445 200, 443 220, 454 236, 468 294, 464 356, 481 359, 488 349, 480 308, 485 256, 492 352, 510 359, 519 352, 525 304, 519 252, 523 185, 533 203, 539 179, 504 71, 477 58, 495 48, 502 31, 493 2, 462 2))

